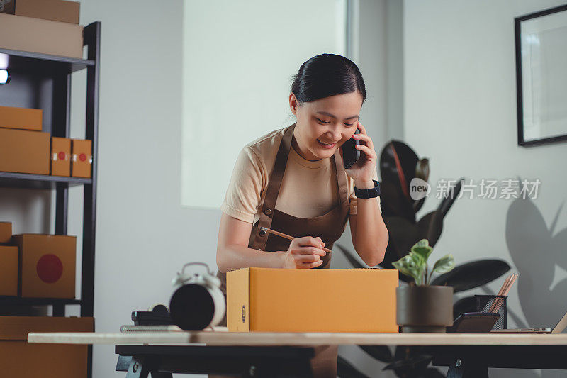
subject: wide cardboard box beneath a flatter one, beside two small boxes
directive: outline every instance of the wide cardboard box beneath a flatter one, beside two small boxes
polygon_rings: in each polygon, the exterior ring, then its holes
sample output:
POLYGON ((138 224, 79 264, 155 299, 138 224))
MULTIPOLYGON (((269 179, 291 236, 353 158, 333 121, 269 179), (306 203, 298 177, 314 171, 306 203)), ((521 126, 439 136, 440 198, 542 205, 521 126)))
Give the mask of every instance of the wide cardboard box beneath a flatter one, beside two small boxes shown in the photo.
POLYGON ((49 145, 49 133, 0 128, 0 171, 49 174, 49 145))

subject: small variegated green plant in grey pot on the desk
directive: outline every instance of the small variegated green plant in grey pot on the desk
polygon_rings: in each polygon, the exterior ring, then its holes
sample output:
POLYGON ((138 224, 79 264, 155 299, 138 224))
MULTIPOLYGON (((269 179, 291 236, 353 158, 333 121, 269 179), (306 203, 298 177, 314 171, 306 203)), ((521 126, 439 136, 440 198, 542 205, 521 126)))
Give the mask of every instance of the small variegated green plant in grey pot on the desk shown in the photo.
POLYGON ((430 270, 427 265, 433 248, 427 239, 415 243, 408 255, 392 265, 413 282, 396 289, 396 321, 402 332, 445 332, 453 324, 453 288, 430 285, 433 273, 454 268, 452 255, 441 257, 430 270))

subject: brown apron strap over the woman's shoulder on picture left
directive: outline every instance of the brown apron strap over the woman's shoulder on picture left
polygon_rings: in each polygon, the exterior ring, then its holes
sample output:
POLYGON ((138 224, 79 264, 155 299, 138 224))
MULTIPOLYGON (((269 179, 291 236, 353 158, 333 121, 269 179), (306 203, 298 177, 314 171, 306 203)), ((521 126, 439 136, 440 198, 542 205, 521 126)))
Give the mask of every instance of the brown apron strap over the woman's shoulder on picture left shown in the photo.
POLYGON ((283 138, 281 138, 278 154, 276 155, 276 161, 274 162, 274 169, 271 171, 268 187, 266 188, 266 196, 264 196, 264 203, 262 204, 258 227, 254 230, 256 235, 254 235, 252 248, 259 250, 265 250, 266 248, 268 233, 262 231, 262 227, 271 227, 271 220, 274 216, 274 211, 276 210, 276 201, 278 200, 283 173, 286 172, 291 140, 293 139, 293 129, 295 126, 296 123, 289 126, 286 131, 284 131, 283 138))

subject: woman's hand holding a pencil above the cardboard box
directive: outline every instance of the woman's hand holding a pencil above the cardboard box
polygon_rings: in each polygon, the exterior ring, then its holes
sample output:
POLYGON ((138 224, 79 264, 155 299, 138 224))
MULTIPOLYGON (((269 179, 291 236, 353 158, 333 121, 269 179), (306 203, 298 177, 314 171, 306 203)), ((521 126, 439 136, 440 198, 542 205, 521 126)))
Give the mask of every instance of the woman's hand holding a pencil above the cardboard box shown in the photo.
POLYGON ((289 248, 283 254, 283 268, 288 269, 310 269, 318 267, 323 263, 321 257, 327 252, 322 250, 325 243, 321 238, 304 236, 291 240, 289 248))

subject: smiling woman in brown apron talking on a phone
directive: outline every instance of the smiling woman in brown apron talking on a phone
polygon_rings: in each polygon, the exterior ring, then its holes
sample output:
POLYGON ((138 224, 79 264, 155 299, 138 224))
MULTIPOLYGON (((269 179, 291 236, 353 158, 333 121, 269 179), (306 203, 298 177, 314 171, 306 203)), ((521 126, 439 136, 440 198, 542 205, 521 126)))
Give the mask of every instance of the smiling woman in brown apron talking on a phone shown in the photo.
MULTIPOLYGON (((377 192, 376 151, 359 122, 365 99, 362 75, 346 57, 322 54, 301 65, 289 95, 297 122, 246 145, 232 173, 218 233, 223 291, 225 272, 232 269, 330 267, 322 248, 332 248, 347 218, 362 260, 370 266, 383 260, 388 231, 380 197, 370 198, 377 192), (360 141, 362 153, 344 169, 340 147, 349 138, 360 141), (355 188, 370 190, 357 190, 357 198, 355 188), (296 239, 266 234, 262 227, 296 239)), ((322 345, 315 353, 315 376, 335 377, 336 346, 322 345)))

